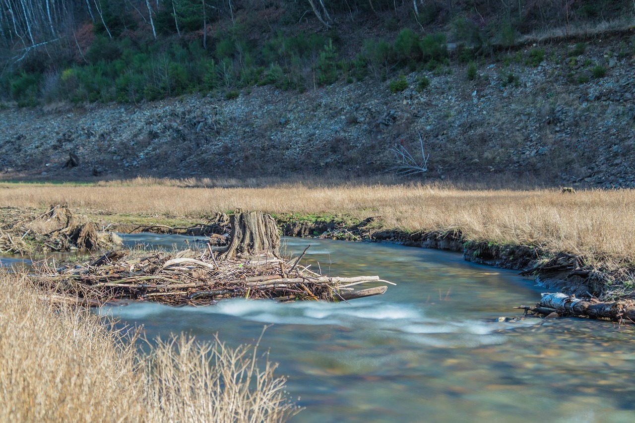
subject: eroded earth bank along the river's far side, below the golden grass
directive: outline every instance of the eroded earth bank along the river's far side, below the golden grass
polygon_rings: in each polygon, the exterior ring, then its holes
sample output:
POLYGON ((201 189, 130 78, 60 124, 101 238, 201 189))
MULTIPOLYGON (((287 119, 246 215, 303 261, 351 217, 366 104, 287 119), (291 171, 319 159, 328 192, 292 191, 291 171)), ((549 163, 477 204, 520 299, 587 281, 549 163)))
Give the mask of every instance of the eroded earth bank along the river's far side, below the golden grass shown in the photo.
MULTIPOLYGON (((40 210, 25 208, 2 208, 0 211, 4 226, 15 224, 17 216, 37 217, 40 213, 40 210)), ((225 213, 210 215, 206 220, 104 213, 92 213, 89 218, 102 229, 112 232, 211 236, 216 243, 222 243, 223 235, 229 231, 229 220, 225 213)), ((285 236, 389 242, 461 252, 467 261, 514 269, 533 276, 549 290, 600 300, 635 297, 635 271, 625 260, 621 263, 615 260, 603 263, 593 257, 542 248, 538 243, 519 245, 471 239, 458 228, 433 231, 387 229, 382 217, 361 219, 345 214, 277 213, 274 218, 285 236)))

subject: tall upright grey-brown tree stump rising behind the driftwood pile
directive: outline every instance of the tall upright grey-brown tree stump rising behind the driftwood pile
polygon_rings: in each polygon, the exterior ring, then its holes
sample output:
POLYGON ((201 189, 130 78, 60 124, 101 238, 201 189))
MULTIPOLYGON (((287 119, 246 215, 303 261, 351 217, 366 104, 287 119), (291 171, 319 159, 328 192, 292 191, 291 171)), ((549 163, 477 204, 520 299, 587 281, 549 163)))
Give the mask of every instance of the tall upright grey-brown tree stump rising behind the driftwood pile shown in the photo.
POLYGON ((229 246, 220 257, 253 257, 254 255, 278 256, 280 232, 276 220, 262 211, 236 211, 229 217, 231 233, 229 246))

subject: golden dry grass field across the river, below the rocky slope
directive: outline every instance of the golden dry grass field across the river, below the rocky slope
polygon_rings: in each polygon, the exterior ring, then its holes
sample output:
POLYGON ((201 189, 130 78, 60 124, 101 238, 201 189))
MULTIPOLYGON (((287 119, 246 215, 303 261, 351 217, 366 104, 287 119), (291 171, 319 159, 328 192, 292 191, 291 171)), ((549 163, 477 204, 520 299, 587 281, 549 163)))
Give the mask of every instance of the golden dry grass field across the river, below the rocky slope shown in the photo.
MULTIPOLYGON (((635 262, 635 191, 457 189, 451 185, 197 187, 142 179, 99 185, 0 184, 0 206, 68 203, 82 213, 196 220, 235 208, 269 213, 381 216, 385 229, 461 229, 467 239, 537 245, 635 262)), ((133 218, 134 220, 134 218, 133 218)))

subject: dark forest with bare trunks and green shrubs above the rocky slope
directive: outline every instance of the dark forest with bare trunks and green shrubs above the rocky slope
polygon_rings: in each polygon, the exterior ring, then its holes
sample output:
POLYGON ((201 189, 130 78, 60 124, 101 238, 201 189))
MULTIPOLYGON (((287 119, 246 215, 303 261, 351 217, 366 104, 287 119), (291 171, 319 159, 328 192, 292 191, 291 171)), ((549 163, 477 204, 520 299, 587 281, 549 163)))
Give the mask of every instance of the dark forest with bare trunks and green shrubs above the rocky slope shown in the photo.
POLYGON ((302 92, 623 27, 634 11, 608 0, 0 0, 0 102, 302 92))

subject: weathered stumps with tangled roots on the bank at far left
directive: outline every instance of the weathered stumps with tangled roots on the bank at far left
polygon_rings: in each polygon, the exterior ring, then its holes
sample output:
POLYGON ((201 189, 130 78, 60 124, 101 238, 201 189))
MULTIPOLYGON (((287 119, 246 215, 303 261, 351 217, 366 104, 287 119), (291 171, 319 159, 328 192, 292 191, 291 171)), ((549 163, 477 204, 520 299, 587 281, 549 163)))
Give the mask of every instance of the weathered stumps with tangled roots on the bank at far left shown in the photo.
POLYGON ((69 210, 51 205, 37 217, 4 222, 0 227, 0 253, 28 254, 40 251, 101 250, 121 245, 114 232, 100 231, 98 224, 69 210))

